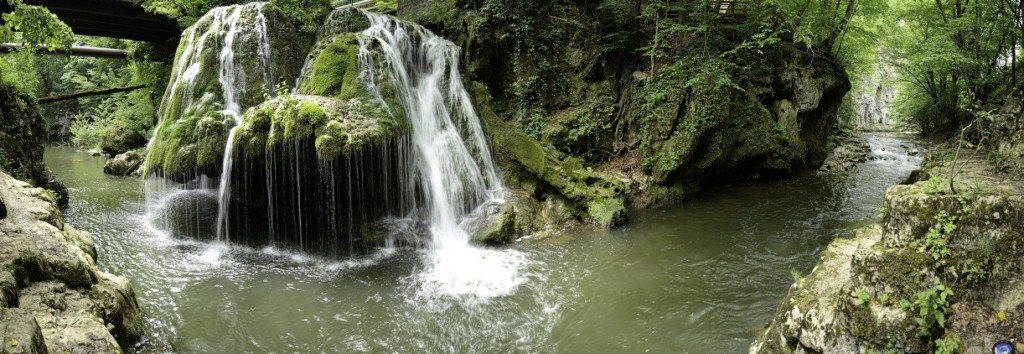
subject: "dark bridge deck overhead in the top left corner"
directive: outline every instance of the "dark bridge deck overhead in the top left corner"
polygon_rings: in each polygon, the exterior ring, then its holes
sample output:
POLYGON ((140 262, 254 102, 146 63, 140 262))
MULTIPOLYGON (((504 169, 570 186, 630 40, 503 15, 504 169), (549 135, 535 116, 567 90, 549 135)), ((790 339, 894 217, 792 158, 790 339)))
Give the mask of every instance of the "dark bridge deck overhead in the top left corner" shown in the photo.
MULTIPOLYGON (((181 36, 177 23, 146 12, 142 0, 25 0, 25 3, 46 7, 76 35, 151 43, 171 43, 181 36)), ((6 1, 0 1, 0 13, 10 10, 6 1)))

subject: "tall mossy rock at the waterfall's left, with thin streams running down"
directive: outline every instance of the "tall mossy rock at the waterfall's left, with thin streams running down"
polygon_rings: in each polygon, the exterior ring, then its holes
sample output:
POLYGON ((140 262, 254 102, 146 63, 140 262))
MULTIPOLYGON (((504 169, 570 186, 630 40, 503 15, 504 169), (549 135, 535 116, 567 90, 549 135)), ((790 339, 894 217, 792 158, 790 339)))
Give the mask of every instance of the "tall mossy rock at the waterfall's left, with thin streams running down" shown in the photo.
POLYGON ((231 107, 219 73, 220 46, 231 33, 236 16, 230 85, 240 114, 275 95, 278 86, 287 87, 298 77, 303 53, 301 46, 295 45, 296 30, 280 9, 250 3, 211 10, 182 35, 160 108, 161 123, 146 157, 148 170, 170 175, 216 173, 215 165, 234 125, 221 113, 231 107))

